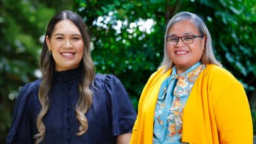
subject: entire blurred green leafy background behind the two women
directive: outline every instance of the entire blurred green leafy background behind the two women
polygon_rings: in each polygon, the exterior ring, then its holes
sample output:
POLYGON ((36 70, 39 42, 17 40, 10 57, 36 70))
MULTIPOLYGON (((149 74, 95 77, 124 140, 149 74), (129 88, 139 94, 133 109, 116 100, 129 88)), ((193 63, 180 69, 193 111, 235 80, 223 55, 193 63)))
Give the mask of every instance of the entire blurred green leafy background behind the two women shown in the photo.
POLYGON ((64 9, 82 16, 97 72, 120 78, 135 109, 162 61, 167 21, 179 11, 199 14, 216 57, 245 87, 256 123, 256 0, 0 0, 0 7, 0 143, 19 89, 42 76, 38 58, 48 21, 64 9))

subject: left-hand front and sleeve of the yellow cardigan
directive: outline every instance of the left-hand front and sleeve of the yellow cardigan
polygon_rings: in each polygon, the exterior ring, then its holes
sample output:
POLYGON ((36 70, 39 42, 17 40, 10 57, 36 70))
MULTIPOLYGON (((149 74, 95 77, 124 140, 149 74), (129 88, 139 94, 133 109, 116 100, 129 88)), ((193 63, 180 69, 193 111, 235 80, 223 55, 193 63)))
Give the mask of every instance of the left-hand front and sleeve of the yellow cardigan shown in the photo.
POLYGON ((153 140, 153 115, 152 119, 147 119, 150 116, 150 112, 153 113, 155 110, 155 105, 157 101, 158 91, 155 89, 160 89, 162 81, 170 75, 170 70, 162 74, 162 70, 158 70, 150 76, 147 84, 143 88, 142 94, 140 96, 140 101, 138 102, 138 116, 136 118, 135 124, 133 126, 133 131, 131 135, 131 144, 136 143, 152 143, 153 140), (147 100, 146 100, 147 99, 147 100), (144 102, 148 101, 148 102, 144 102), (147 107, 147 108, 145 108, 147 107), (147 116, 143 108, 147 109, 147 116), (143 111, 143 112, 142 112, 143 111), (146 118, 147 117, 147 118, 146 118), (147 124, 146 124, 147 123, 147 124), (145 127, 147 127, 145 130, 145 127), (151 135, 151 136, 150 136, 151 135))

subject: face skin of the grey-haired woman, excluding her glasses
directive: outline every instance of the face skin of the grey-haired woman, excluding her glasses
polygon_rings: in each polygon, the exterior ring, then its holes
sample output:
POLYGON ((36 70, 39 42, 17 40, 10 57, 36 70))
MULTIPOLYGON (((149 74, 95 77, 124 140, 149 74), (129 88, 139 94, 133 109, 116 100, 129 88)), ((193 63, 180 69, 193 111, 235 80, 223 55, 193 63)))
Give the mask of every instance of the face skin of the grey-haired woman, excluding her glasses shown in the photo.
MULTIPOLYGON (((169 36, 200 35, 196 26, 190 21, 182 20, 175 23, 169 30, 169 36)), ((185 44, 181 38, 176 45, 167 44, 170 60, 176 66, 176 73, 181 74, 201 60, 204 50, 205 36, 194 38, 194 43, 185 44)))

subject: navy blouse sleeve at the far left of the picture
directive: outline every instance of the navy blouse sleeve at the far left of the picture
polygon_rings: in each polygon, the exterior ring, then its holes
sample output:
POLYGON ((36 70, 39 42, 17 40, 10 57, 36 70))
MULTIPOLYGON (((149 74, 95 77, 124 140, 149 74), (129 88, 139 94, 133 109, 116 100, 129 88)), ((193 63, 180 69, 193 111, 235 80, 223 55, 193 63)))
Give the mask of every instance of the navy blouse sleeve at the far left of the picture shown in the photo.
POLYGON ((32 93, 33 87, 31 84, 26 84, 19 91, 6 143, 34 143, 28 116, 29 97, 32 93))

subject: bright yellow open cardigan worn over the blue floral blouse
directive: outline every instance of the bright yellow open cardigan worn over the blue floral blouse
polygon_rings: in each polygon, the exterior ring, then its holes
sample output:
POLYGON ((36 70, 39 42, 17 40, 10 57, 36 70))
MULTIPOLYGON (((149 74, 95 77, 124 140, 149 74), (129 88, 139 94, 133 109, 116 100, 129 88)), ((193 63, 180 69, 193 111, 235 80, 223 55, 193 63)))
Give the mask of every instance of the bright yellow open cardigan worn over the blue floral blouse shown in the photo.
MULTIPOLYGON (((142 91, 130 143, 152 143, 160 86, 171 70, 151 75, 142 91)), ((249 143, 252 117, 242 84, 217 65, 206 65, 192 87, 182 118, 182 141, 196 144, 249 143)))

